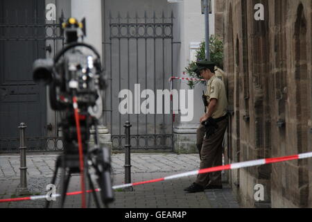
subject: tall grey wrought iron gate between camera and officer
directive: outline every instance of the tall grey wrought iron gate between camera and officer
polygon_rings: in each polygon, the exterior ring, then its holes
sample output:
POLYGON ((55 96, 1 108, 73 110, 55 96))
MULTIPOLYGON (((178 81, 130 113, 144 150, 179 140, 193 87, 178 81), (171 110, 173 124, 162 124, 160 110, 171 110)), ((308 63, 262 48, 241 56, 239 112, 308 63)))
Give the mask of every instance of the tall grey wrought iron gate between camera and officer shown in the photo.
MULTIPOLYGON (((134 17, 130 17, 129 13, 124 17, 120 13, 115 17, 112 12, 109 14, 109 30, 104 44, 110 85, 105 96, 104 111, 105 125, 112 133, 112 147, 115 150, 124 148, 123 124, 130 121, 132 149, 171 151, 171 115, 164 112, 121 115, 119 104, 122 99, 119 98, 119 92, 130 89, 135 98, 135 84, 140 85, 141 91, 152 89, 155 94, 157 89, 168 89, 168 78, 173 73, 173 12, 168 17, 164 12, 159 17, 155 12, 149 17, 146 12, 142 17, 137 13, 134 17)), ((162 108, 164 111, 164 98, 162 108)))

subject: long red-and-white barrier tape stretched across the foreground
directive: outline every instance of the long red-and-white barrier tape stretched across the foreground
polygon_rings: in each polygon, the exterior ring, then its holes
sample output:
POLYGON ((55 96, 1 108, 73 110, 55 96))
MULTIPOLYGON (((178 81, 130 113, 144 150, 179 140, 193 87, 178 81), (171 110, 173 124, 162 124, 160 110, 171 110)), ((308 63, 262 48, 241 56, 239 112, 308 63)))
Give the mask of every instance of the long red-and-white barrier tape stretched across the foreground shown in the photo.
MULTIPOLYGON (((267 159, 261 159, 261 160, 252 160, 252 161, 248 161, 248 162, 239 162, 239 163, 234 163, 234 164, 228 164, 225 166, 211 167, 211 168, 207 168, 207 169, 189 171, 186 173, 179 173, 179 174, 175 174, 173 176, 167 176, 167 177, 158 178, 155 180, 133 182, 133 183, 125 184, 125 185, 116 185, 112 188, 113 189, 121 189, 121 188, 125 188, 125 187, 135 187, 138 185, 145 185, 148 183, 160 182, 160 181, 164 181, 164 180, 174 180, 177 178, 196 176, 198 174, 203 174, 203 173, 211 173, 211 172, 230 170, 230 169, 241 169, 241 168, 245 168, 245 167, 255 167, 255 166, 260 166, 260 165, 264 165, 264 164, 286 162, 286 161, 290 161, 290 160, 300 160, 300 159, 306 159, 306 158, 311 158, 311 157, 312 157, 312 152, 311 153, 302 153, 302 154, 298 154, 298 155, 290 155, 290 156, 286 156, 286 157, 275 157, 275 158, 267 158, 267 159)), ((95 191, 101 191, 101 189, 95 189, 95 191)), ((90 192, 92 192, 92 190, 87 191, 87 193, 90 193, 90 192)), ((67 196, 73 196, 73 195, 78 195, 78 194, 82 194, 82 191, 67 193, 67 196)), ((52 195, 52 197, 59 197, 59 196, 60 196, 60 194, 52 195)), ((12 201, 22 201, 22 200, 38 200, 38 199, 44 199, 44 198, 46 198, 45 195, 30 196, 30 197, 24 197, 24 198, 10 198, 10 199, 2 199, 2 200, 0 200, 0 203, 12 202, 12 201)))

